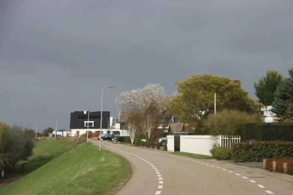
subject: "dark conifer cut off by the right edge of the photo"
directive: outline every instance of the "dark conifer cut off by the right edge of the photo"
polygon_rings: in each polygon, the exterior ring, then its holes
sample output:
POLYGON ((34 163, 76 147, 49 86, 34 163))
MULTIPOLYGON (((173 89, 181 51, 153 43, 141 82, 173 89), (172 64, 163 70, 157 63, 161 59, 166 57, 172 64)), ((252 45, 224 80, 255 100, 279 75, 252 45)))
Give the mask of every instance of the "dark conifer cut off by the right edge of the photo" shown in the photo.
POLYGON ((281 82, 272 102, 272 112, 285 120, 293 117, 293 67, 288 72, 290 77, 281 82))

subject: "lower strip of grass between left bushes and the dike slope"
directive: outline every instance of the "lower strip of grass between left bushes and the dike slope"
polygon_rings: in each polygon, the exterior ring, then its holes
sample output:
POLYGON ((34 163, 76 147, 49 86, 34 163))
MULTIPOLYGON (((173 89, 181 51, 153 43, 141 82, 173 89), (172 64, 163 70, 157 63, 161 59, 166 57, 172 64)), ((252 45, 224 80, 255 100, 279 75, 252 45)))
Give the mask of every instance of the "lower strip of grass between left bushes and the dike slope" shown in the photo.
POLYGON ((35 171, 46 164, 51 158, 59 155, 63 149, 73 145, 73 143, 72 141, 59 140, 37 141, 33 150, 33 156, 29 157, 27 161, 18 162, 16 164, 16 170, 12 175, 25 175, 35 171), (24 166, 21 166, 23 163, 25 163, 24 166))

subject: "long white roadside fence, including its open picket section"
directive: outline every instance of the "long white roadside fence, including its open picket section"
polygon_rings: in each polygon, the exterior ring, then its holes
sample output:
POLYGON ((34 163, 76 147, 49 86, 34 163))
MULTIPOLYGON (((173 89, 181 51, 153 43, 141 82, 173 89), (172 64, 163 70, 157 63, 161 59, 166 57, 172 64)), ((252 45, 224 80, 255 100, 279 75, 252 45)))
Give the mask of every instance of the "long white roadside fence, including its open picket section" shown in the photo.
MULTIPOLYGON (((180 136, 180 152, 211 156, 209 151, 213 144, 231 147, 233 142, 240 141, 240 136, 180 136)), ((174 152, 174 136, 167 136, 167 149, 174 152)))

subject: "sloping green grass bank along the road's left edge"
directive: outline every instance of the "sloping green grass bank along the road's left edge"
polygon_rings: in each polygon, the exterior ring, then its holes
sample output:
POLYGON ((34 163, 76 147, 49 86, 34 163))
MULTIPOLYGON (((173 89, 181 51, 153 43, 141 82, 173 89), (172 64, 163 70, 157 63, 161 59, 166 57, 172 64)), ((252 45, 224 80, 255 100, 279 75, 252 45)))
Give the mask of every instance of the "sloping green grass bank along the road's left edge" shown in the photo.
POLYGON ((112 195, 130 175, 130 163, 123 157, 83 143, 1 188, 0 194, 112 195))

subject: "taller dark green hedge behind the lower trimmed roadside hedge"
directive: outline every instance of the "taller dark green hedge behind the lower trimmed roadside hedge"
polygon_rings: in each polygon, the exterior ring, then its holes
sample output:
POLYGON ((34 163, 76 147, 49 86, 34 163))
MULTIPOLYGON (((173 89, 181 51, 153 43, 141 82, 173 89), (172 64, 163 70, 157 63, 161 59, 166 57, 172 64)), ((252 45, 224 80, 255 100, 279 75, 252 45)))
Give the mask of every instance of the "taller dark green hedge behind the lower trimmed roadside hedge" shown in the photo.
MULTIPOLYGON (((237 131, 242 140, 268 141, 269 129, 265 122, 245 123, 237 131)), ((270 140, 293 141, 293 122, 273 122, 270 126, 270 140)))

